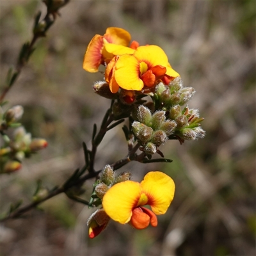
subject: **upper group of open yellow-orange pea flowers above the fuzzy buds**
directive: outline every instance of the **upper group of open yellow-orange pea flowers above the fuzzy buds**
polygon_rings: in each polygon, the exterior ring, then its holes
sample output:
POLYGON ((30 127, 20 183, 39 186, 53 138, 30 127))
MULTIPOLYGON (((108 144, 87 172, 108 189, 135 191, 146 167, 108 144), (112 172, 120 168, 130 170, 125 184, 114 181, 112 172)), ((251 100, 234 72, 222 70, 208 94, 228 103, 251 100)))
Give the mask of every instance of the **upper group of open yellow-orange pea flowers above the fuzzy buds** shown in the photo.
MULTIPOLYGON (((154 90, 159 81, 168 84, 179 76, 159 46, 139 46, 135 41, 128 46, 130 40, 131 35, 124 29, 108 28, 105 35, 92 38, 83 61, 83 68, 88 72, 97 72, 99 66, 104 65, 109 92, 102 96, 111 97, 111 93, 119 92, 127 104, 134 102, 135 92, 154 90)), ((99 92, 99 83, 96 92, 99 92)))

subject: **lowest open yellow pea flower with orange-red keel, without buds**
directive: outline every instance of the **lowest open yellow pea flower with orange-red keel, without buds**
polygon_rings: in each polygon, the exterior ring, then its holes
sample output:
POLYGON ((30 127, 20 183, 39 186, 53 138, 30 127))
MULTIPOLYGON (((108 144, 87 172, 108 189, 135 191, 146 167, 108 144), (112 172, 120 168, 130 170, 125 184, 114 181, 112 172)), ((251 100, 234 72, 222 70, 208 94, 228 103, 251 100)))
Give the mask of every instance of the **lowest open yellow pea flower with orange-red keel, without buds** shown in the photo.
POLYGON ((132 180, 111 187, 103 197, 102 206, 108 216, 134 228, 157 226, 156 215, 164 214, 174 196, 175 184, 163 172, 149 172, 139 183, 132 180), (150 205, 152 211, 143 207, 150 205))

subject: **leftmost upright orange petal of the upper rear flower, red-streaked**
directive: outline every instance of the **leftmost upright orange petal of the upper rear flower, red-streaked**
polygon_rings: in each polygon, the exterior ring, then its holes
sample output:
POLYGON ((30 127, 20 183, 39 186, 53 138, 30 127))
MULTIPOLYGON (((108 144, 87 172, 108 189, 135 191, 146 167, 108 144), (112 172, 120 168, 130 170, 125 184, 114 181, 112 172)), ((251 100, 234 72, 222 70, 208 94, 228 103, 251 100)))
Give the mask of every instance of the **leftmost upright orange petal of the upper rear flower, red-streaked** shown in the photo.
POLYGON ((83 68, 88 72, 97 72, 102 61, 103 36, 93 36, 84 54, 83 68))

